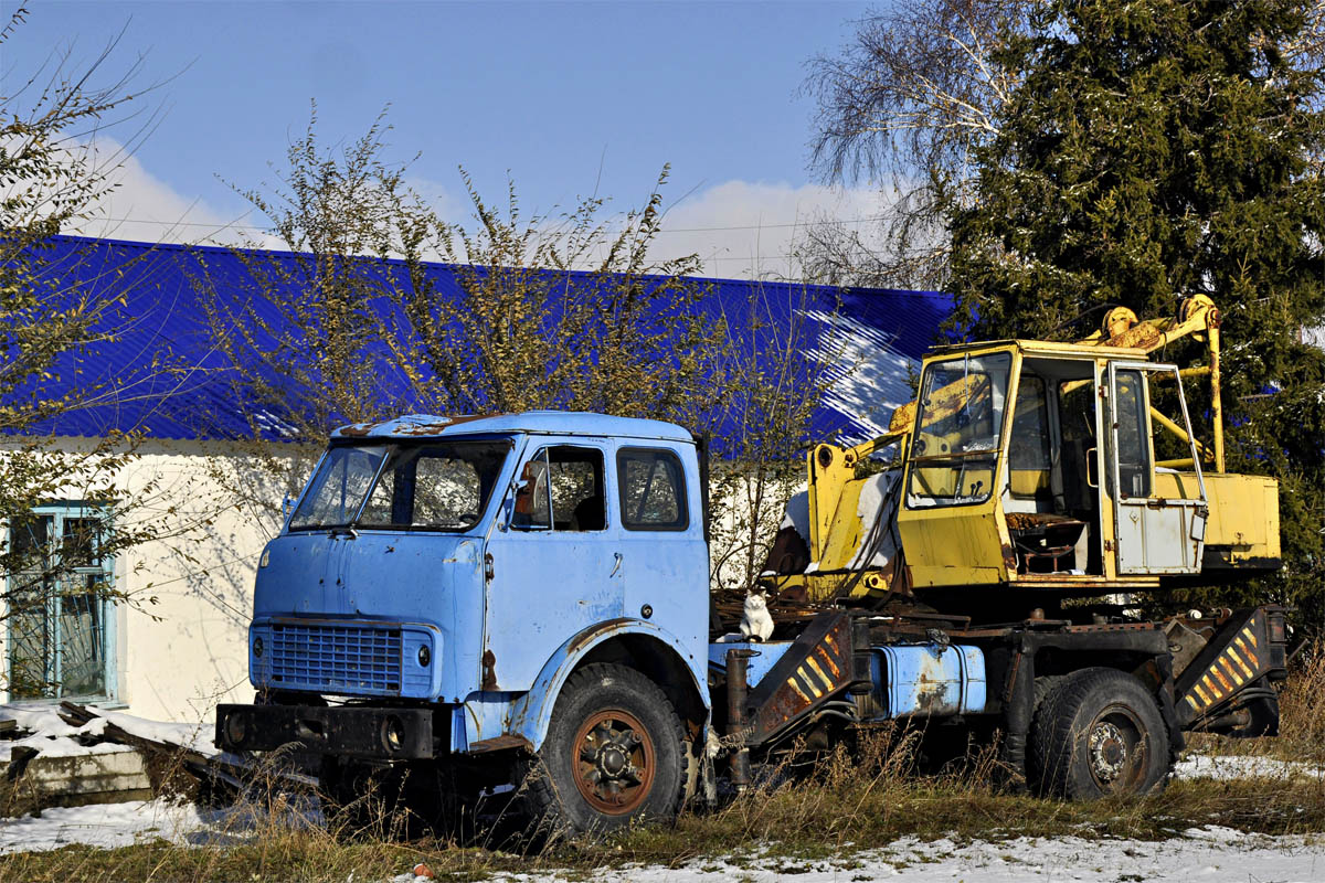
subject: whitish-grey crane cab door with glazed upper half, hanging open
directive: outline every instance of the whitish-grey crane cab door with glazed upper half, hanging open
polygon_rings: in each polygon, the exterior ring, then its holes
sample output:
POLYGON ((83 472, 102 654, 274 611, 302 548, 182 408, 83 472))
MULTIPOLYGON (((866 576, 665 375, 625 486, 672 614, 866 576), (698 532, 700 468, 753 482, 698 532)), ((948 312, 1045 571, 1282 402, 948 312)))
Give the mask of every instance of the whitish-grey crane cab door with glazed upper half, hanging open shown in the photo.
POLYGON ((1199 572, 1208 510, 1178 368, 1145 361, 1109 363, 1106 418, 1108 494, 1113 498, 1118 575, 1199 572), (1195 491, 1191 499, 1173 499, 1157 492, 1155 470, 1166 467, 1157 466, 1151 443, 1150 383, 1154 380, 1177 389, 1182 413, 1171 422, 1187 434, 1190 463, 1195 471, 1195 475, 1183 473, 1183 478, 1194 481, 1165 482, 1163 486, 1183 487, 1189 495, 1195 491))

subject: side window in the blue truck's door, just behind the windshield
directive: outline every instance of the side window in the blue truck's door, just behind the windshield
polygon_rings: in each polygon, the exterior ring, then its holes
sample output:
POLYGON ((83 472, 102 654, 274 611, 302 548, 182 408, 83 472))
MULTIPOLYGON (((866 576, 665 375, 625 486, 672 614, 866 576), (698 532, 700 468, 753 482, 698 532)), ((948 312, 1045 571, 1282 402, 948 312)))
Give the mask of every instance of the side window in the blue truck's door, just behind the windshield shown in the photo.
POLYGON ((545 447, 525 463, 511 527, 554 531, 607 528, 603 453, 594 447, 545 447))

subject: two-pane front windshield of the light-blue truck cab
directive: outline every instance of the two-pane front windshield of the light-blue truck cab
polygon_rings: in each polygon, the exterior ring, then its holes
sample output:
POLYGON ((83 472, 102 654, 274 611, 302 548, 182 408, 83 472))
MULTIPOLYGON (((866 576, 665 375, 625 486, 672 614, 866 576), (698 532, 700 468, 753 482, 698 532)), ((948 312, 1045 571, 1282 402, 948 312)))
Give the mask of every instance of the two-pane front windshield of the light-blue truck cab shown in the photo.
POLYGON ((482 516, 509 450, 505 441, 333 447, 290 530, 468 530, 482 516))

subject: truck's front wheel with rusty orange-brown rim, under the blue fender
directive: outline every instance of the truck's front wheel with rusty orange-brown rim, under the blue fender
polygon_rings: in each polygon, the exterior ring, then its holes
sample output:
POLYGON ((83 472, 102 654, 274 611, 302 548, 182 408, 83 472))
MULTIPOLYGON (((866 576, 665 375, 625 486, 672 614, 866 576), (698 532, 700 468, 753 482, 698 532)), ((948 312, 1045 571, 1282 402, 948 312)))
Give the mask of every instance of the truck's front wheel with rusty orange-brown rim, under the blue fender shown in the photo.
POLYGON ((633 669, 588 665, 566 682, 526 800, 543 834, 606 833, 637 819, 670 821, 681 806, 681 720, 633 669))

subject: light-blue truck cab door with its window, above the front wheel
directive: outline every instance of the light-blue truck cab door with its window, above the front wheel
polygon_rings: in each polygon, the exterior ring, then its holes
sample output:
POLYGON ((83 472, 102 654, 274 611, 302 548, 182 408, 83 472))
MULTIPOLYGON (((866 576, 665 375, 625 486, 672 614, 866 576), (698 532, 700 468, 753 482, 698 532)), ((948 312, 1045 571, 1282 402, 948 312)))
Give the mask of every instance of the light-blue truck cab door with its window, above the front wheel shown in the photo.
POLYGON ((486 543, 485 691, 534 686, 571 635, 623 610, 607 440, 530 442, 486 543))

